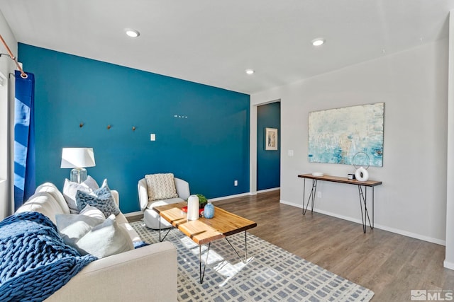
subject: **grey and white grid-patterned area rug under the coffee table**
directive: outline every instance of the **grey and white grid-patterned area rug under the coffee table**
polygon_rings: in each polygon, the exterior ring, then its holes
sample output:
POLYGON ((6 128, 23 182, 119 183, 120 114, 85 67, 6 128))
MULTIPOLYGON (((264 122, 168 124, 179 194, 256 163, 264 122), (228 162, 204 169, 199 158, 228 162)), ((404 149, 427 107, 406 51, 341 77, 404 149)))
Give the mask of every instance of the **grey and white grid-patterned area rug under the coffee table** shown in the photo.
MULTIPOLYGON (((131 223, 147 243, 159 231, 142 221, 131 223)), ((165 240, 177 247, 178 301, 370 301, 374 292, 339 277, 287 250, 248 233, 243 263, 225 239, 211 243, 204 283, 199 283, 199 245, 172 229, 165 240)), ((244 232, 228 240, 244 257, 244 232)), ((208 245, 202 246, 202 265, 208 245)))

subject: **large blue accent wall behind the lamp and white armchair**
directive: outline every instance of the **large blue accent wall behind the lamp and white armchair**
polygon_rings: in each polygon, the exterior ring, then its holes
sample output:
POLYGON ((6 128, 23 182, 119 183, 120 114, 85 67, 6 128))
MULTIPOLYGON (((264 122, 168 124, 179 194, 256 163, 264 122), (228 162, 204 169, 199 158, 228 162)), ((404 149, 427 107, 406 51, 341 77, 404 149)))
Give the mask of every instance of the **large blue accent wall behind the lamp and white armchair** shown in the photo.
POLYGON ((62 189, 62 148, 92 147, 88 173, 118 190, 124 213, 139 210, 150 173, 208 198, 249 192, 249 95, 21 43, 18 58, 35 74, 38 185, 62 189))

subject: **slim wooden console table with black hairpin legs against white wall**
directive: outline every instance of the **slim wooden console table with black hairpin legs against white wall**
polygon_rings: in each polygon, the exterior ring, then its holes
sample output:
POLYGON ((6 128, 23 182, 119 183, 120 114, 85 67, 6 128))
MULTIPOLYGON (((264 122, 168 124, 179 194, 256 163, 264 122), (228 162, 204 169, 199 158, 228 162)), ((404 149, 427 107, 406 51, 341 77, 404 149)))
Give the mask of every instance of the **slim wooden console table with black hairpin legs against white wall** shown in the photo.
POLYGON ((346 183, 348 185, 358 185, 358 193, 360 195, 360 209, 361 209, 361 222, 362 222, 362 231, 366 232, 366 219, 369 221, 370 229, 374 228, 374 187, 381 185, 381 181, 377 180, 367 180, 365 182, 360 182, 358 180, 349 180, 348 178, 341 178, 338 176, 314 176, 312 174, 301 174, 298 175, 299 178, 304 178, 304 189, 303 189, 303 215, 306 214, 307 207, 309 206, 309 201, 311 202, 311 213, 314 212, 314 202, 315 194, 317 190, 317 182, 319 180, 328 181, 328 182, 340 182, 346 183), (304 207, 304 199, 306 198, 306 178, 312 180, 312 190, 307 199, 306 207, 304 207), (372 187, 372 223, 370 223, 369 211, 367 211, 367 187, 372 187), (364 188, 364 190, 363 190, 364 188), (364 210, 362 207, 364 206, 364 210))

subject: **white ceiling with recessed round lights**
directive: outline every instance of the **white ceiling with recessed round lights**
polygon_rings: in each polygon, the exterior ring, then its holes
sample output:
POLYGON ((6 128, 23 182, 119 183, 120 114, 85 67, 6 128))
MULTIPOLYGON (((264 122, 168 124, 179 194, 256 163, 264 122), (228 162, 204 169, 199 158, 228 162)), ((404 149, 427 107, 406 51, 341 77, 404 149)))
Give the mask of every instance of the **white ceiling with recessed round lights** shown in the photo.
POLYGON ((18 42, 243 93, 448 37, 451 8, 454 0, 0 0, 18 42), (312 46, 316 37, 325 45, 312 46))

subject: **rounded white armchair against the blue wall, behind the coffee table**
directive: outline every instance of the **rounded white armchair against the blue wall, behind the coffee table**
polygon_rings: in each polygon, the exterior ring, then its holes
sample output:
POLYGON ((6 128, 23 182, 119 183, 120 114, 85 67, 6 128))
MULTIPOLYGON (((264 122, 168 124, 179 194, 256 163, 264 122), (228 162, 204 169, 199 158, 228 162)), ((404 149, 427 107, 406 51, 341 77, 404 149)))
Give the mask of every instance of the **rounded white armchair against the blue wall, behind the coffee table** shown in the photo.
MULTIPOLYGON (((184 202, 189 198, 189 183, 185 180, 181 180, 179 178, 174 178, 175 180, 175 188, 177 189, 178 197, 170 198, 170 199, 162 199, 162 200, 148 200, 148 187, 147 181, 145 178, 142 178, 138 182, 138 194, 139 194, 139 203, 140 203, 140 210, 143 211, 143 221, 145 222, 145 226, 148 228, 153 228, 158 230, 159 227, 159 214, 153 207, 162 206, 165 204, 175 204, 177 202, 184 202)), ((165 221, 165 219, 161 219, 161 228, 170 228, 172 225, 165 221)))

